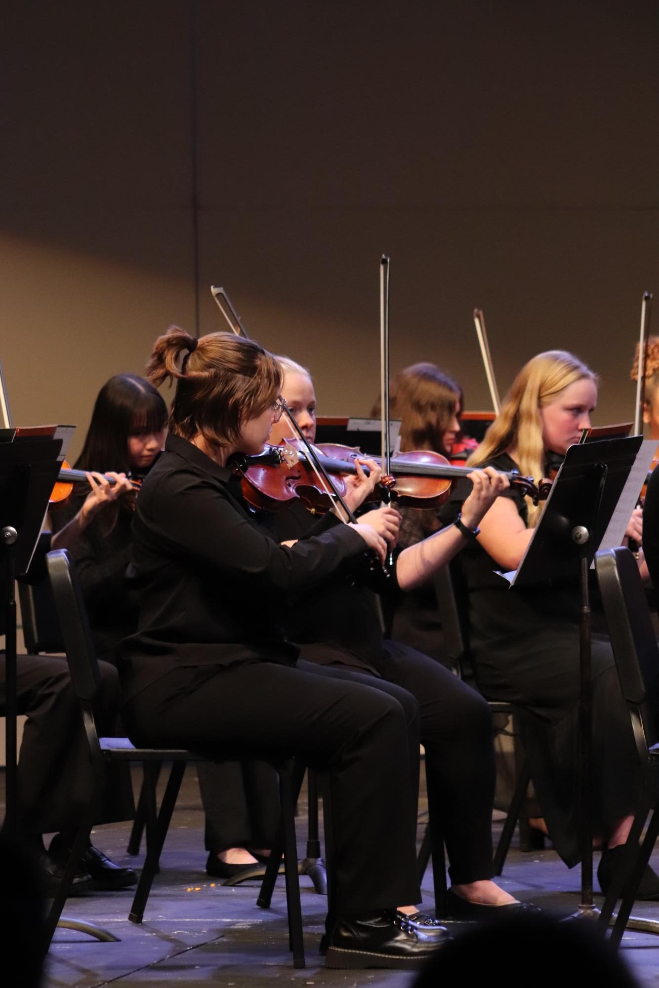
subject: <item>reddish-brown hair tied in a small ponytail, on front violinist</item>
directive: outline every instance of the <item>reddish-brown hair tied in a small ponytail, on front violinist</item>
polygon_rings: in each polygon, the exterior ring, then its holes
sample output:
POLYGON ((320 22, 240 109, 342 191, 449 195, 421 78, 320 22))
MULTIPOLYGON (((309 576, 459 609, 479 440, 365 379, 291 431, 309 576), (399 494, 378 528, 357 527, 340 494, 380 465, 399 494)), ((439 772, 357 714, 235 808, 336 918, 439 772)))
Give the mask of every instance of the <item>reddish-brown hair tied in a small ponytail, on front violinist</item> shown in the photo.
POLYGON ((176 380, 170 430, 188 440, 201 433, 213 446, 235 443, 282 390, 279 364, 258 343, 231 333, 197 340, 178 326, 156 340, 146 376, 156 387, 176 380))

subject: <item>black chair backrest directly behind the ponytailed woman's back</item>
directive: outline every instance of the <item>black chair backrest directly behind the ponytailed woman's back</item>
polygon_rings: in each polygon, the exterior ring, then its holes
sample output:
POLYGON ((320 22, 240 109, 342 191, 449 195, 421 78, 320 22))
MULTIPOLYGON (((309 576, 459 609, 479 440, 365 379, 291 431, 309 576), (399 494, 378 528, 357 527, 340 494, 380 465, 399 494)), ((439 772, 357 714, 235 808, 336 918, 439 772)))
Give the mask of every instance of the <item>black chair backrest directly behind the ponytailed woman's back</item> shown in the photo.
POLYGON ((101 677, 78 574, 66 549, 48 552, 46 566, 73 689, 93 709, 101 677))

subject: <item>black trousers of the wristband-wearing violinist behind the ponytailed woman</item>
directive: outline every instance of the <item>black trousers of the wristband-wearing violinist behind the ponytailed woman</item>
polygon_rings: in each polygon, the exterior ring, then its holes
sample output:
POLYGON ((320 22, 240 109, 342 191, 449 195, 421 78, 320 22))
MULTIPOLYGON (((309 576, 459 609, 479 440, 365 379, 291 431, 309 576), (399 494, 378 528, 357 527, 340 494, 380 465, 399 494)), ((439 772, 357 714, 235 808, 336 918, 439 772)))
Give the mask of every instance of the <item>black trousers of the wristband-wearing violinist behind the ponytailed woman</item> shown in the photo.
MULTIPOLYGON (((312 661, 355 662, 325 644, 301 648, 312 661)), ((426 785, 440 814, 453 884, 491 878, 496 769, 488 703, 441 663, 398 641, 383 641, 375 669, 419 703, 426 785)), ((370 680, 382 688, 381 680, 370 680)))

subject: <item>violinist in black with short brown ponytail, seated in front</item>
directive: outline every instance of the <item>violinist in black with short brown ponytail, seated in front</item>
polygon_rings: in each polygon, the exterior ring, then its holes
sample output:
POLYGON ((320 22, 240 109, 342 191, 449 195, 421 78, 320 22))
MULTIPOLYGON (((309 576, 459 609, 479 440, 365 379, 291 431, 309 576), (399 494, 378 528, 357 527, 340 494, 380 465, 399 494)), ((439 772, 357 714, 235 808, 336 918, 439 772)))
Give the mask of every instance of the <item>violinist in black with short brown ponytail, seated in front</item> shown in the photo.
POLYGON ((286 546, 247 507, 232 456, 261 453, 281 414, 282 372, 258 344, 174 329, 147 373, 177 386, 132 528, 129 735, 220 759, 281 750, 327 772, 337 882, 327 963, 416 966, 445 936, 415 905, 418 708, 389 684, 302 663, 281 621, 288 595, 349 572, 365 550, 383 559, 385 541, 361 523, 286 546))

